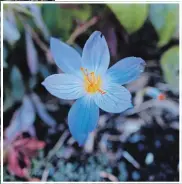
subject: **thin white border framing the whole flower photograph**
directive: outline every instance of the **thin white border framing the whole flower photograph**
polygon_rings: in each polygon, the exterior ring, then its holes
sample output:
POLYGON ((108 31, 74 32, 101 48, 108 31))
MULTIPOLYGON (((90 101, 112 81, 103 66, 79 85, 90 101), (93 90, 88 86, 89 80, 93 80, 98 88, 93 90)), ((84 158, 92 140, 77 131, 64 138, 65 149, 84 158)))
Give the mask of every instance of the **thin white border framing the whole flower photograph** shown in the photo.
MULTIPOLYGON (((174 3, 177 3, 179 4, 179 21, 180 21, 180 26, 179 26, 179 47, 180 47, 180 62, 179 62, 179 68, 180 68, 180 93, 179 93, 179 108, 180 110, 182 109, 182 56, 181 56, 181 53, 182 53, 182 39, 181 39, 181 36, 182 36, 182 30, 181 30, 181 25, 182 25, 182 1, 181 0, 174 0, 174 1, 171 1, 171 0, 153 0, 153 1, 150 1, 150 0, 128 0, 128 1, 122 1, 122 0, 117 0, 117 1, 111 1, 111 0, 104 0, 104 1, 98 1, 98 0, 91 0, 91 1, 84 1, 84 0, 81 0, 81 1, 77 1, 77 0, 67 0, 67 1, 58 1, 58 0, 55 0, 55 1, 1 1, 1 163, 3 163, 3 153, 2 153, 2 150, 3 150, 3 6, 4 4, 63 4, 63 3, 70 3, 70 4, 74 4, 74 3, 80 3, 80 4, 86 4, 86 3, 90 3, 90 4, 105 4, 105 3, 147 3, 147 4, 152 4, 152 3, 156 3, 156 4, 160 4, 160 3, 171 3, 171 4, 174 4, 174 3)), ((182 111, 181 111, 182 112, 182 111)), ((3 164, 1 164, 1 183, 4 183, 4 184, 23 184, 23 183, 35 183, 35 184, 38 184, 38 183, 65 183, 65 184, 68 184, 68 183, 147 183, 147 184, 150 184, 150 183, 181 183, 182 182, 182 164, 181 164, 181 160, 182 160, 182 145, 180 144, 182 141, 182 117, 181 117, 181 114, 179 114, 179 127, 180 127, 180 130, 179 130, 179 133, 180 133, 180 139, 179 139, 179 182, 3 182, 3 164), (181 171, 181 172, 180 172, 181 171)), ((164 153, 165 154, 165 153, 164 153)))

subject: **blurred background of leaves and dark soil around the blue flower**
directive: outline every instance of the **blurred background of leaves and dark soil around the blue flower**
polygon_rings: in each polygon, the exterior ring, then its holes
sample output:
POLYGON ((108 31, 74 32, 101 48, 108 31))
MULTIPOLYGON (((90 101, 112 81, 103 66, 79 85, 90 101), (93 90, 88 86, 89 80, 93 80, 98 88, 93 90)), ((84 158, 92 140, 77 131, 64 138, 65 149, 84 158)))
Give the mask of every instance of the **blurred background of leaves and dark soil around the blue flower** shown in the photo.
POLYGON ((4 181, 178 181, 178 8, 5 4, 4 181), (100 111, 98 128, 79 147, 67 125, 73 101, 55 98, 41 82, 61 72, 49 50, 51 36, 82 54, 95 30, 107 40, 111 66, 128 56, 142 57, 147 65, 126 85, 134 108, 121 114, 100 111))

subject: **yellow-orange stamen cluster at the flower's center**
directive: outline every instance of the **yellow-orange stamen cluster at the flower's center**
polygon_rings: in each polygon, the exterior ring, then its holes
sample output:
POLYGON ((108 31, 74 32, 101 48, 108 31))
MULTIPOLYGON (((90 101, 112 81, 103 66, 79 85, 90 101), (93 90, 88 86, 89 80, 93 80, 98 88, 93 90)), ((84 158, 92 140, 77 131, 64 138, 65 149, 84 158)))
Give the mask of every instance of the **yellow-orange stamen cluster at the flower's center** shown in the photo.
POLYGON ((84 86, 88 93, 99 92, 105 94, 106 92, 100 89, 102 80, 100 76, 96 76, 94 72, 89 73, 87 69, 80 68, 84 76, 84 86))

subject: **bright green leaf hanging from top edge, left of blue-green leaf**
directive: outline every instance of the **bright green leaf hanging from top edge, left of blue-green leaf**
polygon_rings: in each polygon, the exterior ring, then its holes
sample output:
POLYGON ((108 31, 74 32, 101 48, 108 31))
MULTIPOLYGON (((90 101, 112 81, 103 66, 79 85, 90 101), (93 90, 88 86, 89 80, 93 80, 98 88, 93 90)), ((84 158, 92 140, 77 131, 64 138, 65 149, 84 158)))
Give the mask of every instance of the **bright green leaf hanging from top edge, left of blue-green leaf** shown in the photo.
POLYGON ((147 4, 108 4, 108 6, 128 33, 140 29, 148 15, 147 4))

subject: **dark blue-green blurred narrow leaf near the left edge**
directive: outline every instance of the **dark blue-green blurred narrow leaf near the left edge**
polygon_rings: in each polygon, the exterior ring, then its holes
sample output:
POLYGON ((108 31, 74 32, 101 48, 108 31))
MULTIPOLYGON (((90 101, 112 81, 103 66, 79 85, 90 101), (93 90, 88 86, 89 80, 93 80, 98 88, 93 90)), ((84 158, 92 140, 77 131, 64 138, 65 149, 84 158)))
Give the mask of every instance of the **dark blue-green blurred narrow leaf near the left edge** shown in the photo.
POLYGON ((22 75, 20 70, 14 66, 10 74, 12 96, 15 100, 20 101, 25 93, 22 75))

